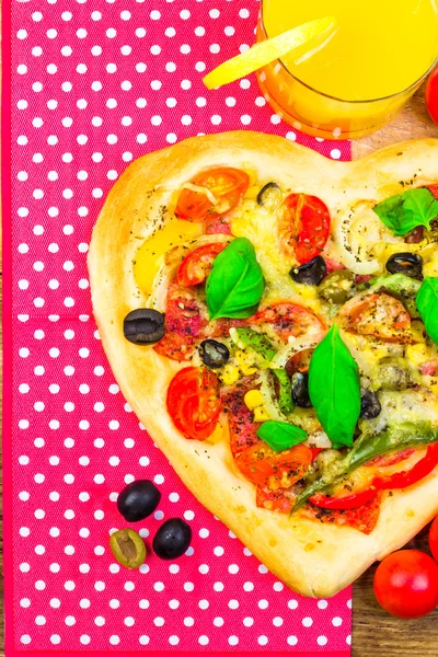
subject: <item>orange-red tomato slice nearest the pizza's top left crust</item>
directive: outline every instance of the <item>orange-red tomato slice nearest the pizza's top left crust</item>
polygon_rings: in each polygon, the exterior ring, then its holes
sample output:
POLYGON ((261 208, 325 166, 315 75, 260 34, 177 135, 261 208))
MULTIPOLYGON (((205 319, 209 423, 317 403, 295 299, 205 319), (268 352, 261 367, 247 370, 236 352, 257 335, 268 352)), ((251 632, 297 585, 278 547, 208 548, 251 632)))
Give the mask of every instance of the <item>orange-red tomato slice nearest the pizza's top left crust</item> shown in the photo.
POLYGON ((201 171, 191 183, 198 187, 207 187, 217 203, 214 204, 201 192, 183 189, 177 199, 175 215, 178 219, 187 221, 208 222, 218 217, 223 218, 235 208, 250 185, 250 176, 239 169, 218 166, 201 171))

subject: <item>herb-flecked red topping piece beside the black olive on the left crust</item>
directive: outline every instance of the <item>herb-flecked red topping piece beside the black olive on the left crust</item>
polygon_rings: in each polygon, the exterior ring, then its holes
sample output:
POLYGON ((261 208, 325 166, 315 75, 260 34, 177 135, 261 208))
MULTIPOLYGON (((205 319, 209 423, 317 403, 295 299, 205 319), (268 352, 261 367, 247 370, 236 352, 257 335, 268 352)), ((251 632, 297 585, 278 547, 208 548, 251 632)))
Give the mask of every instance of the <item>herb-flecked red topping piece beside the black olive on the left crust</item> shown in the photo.
POLYGON ((171 284, 165 299, 165 335, 153 349, 172 360, 188 360, 207 319, 192 290, 171 284))

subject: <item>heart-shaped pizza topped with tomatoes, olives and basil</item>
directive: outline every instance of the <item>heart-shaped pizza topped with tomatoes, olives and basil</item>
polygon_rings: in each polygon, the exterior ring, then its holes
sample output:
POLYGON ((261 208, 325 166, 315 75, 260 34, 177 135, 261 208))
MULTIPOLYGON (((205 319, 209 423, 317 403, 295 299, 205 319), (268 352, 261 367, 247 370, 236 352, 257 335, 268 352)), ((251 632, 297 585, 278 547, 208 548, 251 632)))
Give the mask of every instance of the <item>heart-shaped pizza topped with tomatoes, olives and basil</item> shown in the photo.
POLYGON ((333 162, 251 131, 134 162, 89 253, 130 406, 292 589, 438 512, 438 140, 333 162))

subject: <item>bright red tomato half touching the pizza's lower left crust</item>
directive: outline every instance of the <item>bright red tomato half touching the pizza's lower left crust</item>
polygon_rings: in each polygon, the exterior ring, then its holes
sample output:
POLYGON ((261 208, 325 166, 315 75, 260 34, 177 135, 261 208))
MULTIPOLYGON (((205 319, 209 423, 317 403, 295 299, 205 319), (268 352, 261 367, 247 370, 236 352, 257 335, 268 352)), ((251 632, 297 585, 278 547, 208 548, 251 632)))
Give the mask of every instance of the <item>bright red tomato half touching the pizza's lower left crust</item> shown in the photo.
POLYGON ((205 440, 211 436, 220 410, 220 387, 212 371, 186 367, 173 377, 168 390, 168 411, 185 438, 205 440))

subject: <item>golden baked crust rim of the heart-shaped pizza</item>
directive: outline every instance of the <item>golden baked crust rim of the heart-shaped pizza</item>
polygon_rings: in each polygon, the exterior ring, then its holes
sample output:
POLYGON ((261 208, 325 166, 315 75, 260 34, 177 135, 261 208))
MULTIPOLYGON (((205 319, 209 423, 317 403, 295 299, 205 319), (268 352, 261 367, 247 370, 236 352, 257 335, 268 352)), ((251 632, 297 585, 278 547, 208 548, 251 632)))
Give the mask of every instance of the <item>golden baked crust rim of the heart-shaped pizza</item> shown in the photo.
MULTIPOLYGON (((234 465, 226 423, 204 441, 183 438, 165 408, 174 373, 186 367, 123 335, 126 314, 145 306, 132 261, 168 205, 199 170, 245 162, 285 188, 316 194, 332 217, 358 199, 403 191, 401 181, 438 181, 438 140, 400 143, 356 162, 334 162, 280 137, 251 131, 195 137, 135 161, 110 192, 88 257, 94 316, 120 390, 173 468, 199 499, 291 589, 330 597, 376 560, 404 545, 438 512, 438 472, 407 491, 387 495, 370 535, 255 506, 255 487, 234 465)), ((336 219, 339 220, 339 219, 336 219)))

